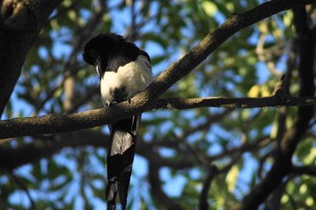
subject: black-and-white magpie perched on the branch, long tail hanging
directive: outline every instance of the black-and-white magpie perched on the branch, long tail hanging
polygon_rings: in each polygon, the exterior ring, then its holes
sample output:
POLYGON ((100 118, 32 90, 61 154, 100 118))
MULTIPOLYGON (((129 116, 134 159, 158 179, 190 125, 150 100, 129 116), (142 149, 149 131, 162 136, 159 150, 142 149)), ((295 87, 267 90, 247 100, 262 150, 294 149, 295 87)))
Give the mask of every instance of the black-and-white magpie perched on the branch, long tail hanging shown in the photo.
MULTIPOLYGON (((83 50, 83 59, 97 71, 104 106, 130 101, 131 97, 148 87, 154 79, 148 53, 116 33, 101 33, 89 40, 83 50)), ((136 114, 108 125, 108 210, 116 209, 117 194, 121 209, 125 210, 140 121, 141 114, 136 114)))

